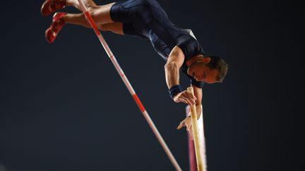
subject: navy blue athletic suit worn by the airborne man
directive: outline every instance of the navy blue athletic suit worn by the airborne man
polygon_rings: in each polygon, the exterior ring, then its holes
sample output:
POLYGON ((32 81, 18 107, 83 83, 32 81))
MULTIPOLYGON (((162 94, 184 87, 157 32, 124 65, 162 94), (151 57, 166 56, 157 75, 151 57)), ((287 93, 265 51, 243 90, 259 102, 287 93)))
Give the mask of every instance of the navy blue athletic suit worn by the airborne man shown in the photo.
POLYGON ((116 2, 110 10, 111 18, 116 23, 123 23, 124 34, 150 39, 155 51, 167 61, 174 46, 179 46, 185 59, 181 66, 191 84, 203 87, 203 82, 197 82, 187 74, 186 61, 198 54, 205 55, 199 42, 187 30, 174 25, 167 13, 155 0, 128 0, 116 2))

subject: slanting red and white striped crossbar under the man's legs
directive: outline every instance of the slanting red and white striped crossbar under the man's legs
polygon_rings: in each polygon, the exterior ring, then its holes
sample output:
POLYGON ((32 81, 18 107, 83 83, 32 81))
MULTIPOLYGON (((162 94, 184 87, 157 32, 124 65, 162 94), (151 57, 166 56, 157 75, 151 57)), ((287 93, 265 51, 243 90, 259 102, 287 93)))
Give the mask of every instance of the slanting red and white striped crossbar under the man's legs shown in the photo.
POLYGON ((112 61, 114 67, 116 68, 117 72, 119 72, 119 75, 121 76, 121 79, 125 83, 128 91, 131 93, 131 96, 133 96, 133 99, 136 101, 136 104, 140 108, 141 112, 144 115, 144 118, 148 122, 148 125, 150 125, 150 128, 152 129, 152 132, 155 133, 155 136, 159 140, 162 148, 165 150, 165 153, 167 153, 167 156, 169 157, 169 160, 171 160, 172 164, 174 165, 176 170, 181 171, 181 168, 179 164, 177 163, 177 160, 172 155, 171 151, 167 147, 167 144, 165 143, 164 139, 162 138, 160 132, 157 130, 157 127, 155 127, 155 124, 152 122, 150 116, 148 115, 147 111, 145 110, 143 104, 141 103, 140 99, 138 98, 138 95, 134 91, 133 87, 131 86, 130 82, 128 81, 126 75, 124 74, 123 70, 121 69, 119 63, 116 61, 116 58, 114 57, 112 51, 109 49, 108 44, 105 42, 104 38, 102 37, 102 34, 100 33, 100 30, 98 30, 97 25, 95 21, 92 19, 90 13, 88 12, 87 8, 85 7, 85 4, 83 4, 83 1, 78 0, 78 3, 80 4, 80 8, 82 9, 83 13, 85 14, 88 22, 90 23, 91 27, 95 31, 95 34, 100 39, 100 43, 104 47, 104 50, 107 52, 107 55, 109 56, 110 60, 112 61))

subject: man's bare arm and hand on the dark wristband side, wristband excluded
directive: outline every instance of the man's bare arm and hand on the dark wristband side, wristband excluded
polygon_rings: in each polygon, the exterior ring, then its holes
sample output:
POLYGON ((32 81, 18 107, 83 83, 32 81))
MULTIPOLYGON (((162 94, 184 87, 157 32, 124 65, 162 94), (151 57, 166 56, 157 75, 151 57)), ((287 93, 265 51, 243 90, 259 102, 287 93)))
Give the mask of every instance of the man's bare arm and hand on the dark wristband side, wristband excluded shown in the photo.
MULTIPOLYGON (((169 89, 175 85, 179 85, 179 69, 183 63, 183 51, 178 46, 174 46, 174 49, 172 49, 171 53, 169 53, 167 63, 165 64, 165 79, 169 89)), ((196 104, 196 96, 193 96, 189 91, 186 90, 176 94, 173 100, 177 103, 187 103, 190 106, 196 104)))

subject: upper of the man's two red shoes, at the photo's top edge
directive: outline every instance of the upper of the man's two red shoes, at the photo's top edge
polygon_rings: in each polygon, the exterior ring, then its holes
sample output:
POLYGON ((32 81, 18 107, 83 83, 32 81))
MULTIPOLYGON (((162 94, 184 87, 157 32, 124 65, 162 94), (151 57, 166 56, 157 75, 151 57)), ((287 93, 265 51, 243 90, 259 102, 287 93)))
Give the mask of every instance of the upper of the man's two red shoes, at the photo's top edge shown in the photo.
POLYGON ((42 15, 47 16, 65 6, 66 0, 47 0, 42 4, 41 13, 42 15))

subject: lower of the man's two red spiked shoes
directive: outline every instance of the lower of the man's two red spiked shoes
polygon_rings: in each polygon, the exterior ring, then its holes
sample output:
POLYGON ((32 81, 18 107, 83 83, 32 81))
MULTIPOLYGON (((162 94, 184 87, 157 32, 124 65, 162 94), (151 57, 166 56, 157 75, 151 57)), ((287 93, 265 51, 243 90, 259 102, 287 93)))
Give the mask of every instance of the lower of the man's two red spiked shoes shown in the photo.
POLYGON ((53 22, 45 32, 47 42, 54 42, 57 37, 57 34, 59 34, 61 28, 64 27, 64 25, 66 24, 64 21, 64 15, 66 15, 66 13, 55 13, 53 15, 53 22))

